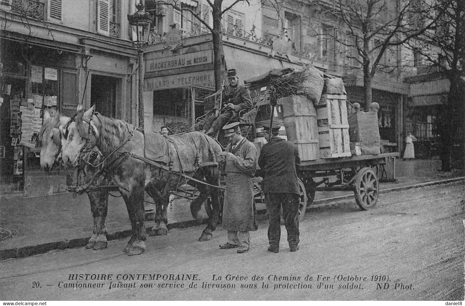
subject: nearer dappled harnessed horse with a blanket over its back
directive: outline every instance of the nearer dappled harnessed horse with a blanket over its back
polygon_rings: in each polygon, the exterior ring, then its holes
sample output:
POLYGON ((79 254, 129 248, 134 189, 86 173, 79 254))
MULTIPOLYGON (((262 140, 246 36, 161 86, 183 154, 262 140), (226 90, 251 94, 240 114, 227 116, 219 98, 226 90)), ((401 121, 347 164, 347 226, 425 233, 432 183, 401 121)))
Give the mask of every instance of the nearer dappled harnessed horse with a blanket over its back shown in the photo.
POLYGON ((82 154, 94 146, 102 153, 105 174, 118 186, 131 220, 133 235, 124 252, 139 255, 146 250, 144 190, 159 199, 166 211, 168 191, 184 183, 195 185, 193 181, 200 183, 200 195, 190 205, 195 219, 208 195, 212 199, 212 217, 199 241, 212 238, 220 213, 217 155, 222 151, 215 140, 200 132, 181 133, 168 139, 96 113, 94 106, 80 110, 68 122, 65 140, 62 159, 66 165, 75 166, 82 154), (156 162, 145 158, 146 147, 158 150, 156 162))

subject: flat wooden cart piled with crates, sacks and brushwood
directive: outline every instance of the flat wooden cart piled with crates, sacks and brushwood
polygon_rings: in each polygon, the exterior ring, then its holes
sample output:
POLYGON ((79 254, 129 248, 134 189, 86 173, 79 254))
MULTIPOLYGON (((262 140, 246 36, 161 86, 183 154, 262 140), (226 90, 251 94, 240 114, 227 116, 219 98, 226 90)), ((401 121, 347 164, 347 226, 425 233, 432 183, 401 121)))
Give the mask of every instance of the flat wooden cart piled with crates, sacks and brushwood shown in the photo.
MULTIPOLYGON (((374 207, 379 182, 395 181, 395 159, 399 156, 399 153, 382 153, 377 109, 361 112, 352 108, 340 79, 324 79, 322 73, 308 68, 297 76, 292 73, 295 72, 283 69, 246 80, 254 108, 236 119, 243 136, 260 151, 267 142, 263 127, 275 123, 281 127, 279 136, 297 146, 301 160, 300 219, 312 204, 316 191, 352 191, 361 209, 374 207), (302 90, 302 83, 310 89, 302 90), (277 88, 279 85, 286 88, 277 88), (292 86, 297 90, 292 90, 292 86), (279 93, 278 99, 273 99, 273 92, 279 93)), ((227 139, 221 133, 218 139, 226 146, 227 139)), ((253 178, 256 203, 264 202, 263 175, 258 169, 253 178)), ((208 203, 206 210, 210 211, 208 203)))

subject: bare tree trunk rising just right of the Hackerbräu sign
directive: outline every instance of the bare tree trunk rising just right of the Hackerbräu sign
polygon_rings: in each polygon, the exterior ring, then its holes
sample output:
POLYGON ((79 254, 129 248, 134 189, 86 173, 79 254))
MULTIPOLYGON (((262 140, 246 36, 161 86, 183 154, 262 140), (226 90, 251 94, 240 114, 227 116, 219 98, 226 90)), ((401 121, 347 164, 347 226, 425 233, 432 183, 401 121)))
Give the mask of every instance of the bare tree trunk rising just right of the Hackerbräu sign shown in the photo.
POLYGON ((225 78, 226 61, 223 50, 223 27, 221 25, 221 3, 222 0, 215 0, 213 6, 213 69, 215 73, 215 89, 221 89, 221 84, 225 78))

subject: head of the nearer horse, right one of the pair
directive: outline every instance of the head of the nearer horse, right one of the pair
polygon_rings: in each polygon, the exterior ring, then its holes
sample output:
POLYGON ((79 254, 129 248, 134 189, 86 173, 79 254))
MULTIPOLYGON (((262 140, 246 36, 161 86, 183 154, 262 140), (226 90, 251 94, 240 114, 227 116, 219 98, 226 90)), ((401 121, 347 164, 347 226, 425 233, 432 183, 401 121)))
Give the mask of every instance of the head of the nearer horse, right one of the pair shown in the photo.
POLYGON ((99 132, 93 123, 94 111, 94 106, 79 111, 66 126, 62 153, 65 165, 77 166, 80 154, 95 147, 99 132))

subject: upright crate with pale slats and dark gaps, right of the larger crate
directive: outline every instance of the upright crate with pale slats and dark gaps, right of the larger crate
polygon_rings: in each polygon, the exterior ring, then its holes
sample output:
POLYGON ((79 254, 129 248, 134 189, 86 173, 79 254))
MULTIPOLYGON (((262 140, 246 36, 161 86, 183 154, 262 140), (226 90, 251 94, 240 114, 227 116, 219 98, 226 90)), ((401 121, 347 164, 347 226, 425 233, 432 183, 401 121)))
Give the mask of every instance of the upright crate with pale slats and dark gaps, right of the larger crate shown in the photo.
POLYGON ((352 155, 346 100, 343 94, 323 94, 316 106, 320 158, 352 155))

